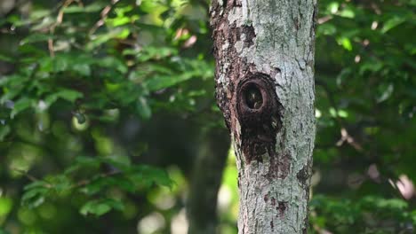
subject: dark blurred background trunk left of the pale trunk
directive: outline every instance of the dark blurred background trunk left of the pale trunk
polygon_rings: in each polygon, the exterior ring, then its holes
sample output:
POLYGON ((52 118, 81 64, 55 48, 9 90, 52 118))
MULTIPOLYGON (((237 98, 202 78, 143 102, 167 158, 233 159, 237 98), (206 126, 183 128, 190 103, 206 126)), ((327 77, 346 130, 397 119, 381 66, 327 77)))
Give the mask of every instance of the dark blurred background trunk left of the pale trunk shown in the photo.
POLYGON ((190 177, 189 234, 218 233, 217 194, 229 149, 225 131, 212 128, 201 139, 199 155, 190 177))

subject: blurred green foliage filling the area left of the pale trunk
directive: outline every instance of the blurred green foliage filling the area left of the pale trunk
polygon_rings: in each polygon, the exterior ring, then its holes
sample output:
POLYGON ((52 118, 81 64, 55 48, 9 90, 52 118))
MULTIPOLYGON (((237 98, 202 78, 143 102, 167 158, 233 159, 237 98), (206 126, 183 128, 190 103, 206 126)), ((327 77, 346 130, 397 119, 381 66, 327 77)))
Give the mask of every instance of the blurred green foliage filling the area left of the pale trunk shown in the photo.
MULTIPOLYGON (((66 233, 63 226, 90 216, 144 217, 155 209, 148 194, 181 186, 160 158, 149 160, 177 152, 163 142, 164 152, 152 152, 146 131, 135 126, 197 112, 205 114, 196 122, 209 121, 204 128, 222 125, 212 112, 204 9, 150 0, 29 4, 0 20, 0 179, 15 184, 0 187, 0 226, 9 230, 16 221, 19 232, 66 233)), ((76 226, 68 231, 91 233, 90 225, 76 226)))

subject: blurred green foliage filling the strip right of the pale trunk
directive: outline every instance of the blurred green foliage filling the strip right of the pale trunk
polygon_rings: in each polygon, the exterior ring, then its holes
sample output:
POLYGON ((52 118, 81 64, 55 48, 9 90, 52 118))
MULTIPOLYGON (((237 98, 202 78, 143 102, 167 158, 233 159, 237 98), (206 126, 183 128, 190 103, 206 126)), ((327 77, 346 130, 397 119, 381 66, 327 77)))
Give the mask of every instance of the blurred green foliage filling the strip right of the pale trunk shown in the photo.
POLYGON ((414 6, 319 2, 312 232, 414 231, 414 6))

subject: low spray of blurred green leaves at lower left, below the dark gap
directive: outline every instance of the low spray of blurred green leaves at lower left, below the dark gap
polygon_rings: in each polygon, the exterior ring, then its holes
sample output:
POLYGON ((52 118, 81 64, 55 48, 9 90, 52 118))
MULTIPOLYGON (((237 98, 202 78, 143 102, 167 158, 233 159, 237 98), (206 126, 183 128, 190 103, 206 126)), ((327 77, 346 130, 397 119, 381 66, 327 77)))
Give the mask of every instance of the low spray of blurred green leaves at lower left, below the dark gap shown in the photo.
MULTIPOLYGON (((108 191, 146 191, 154 184, 172 188, 173 182, 162 169, 135 166, 122 157, 77 157, 63 174, 48 175, 43 180, 34 179, 34 182, 28 183, 21 202, 33 208, 42 205, 45 199, 68 197, 75 192, 96 198, 108 191), (100 173, 100 168, 103 167, 111 170, 100 173)), ((114 198, 103 197, 85 202, 80 213, 102 215, 113 208, 123 210, 123 203, 114 198)))

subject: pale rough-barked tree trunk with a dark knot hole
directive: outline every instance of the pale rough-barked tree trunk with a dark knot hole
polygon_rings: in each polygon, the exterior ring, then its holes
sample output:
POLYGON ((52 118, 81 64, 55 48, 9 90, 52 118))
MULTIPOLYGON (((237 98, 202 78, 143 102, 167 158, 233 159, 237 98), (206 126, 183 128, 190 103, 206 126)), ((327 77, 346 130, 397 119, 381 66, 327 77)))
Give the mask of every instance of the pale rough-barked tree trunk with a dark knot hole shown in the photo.
POLYGON ((212 0, 216 95, 234 144, 239 233, 306 233, 316 0, 212 0))

